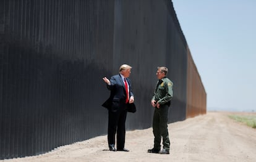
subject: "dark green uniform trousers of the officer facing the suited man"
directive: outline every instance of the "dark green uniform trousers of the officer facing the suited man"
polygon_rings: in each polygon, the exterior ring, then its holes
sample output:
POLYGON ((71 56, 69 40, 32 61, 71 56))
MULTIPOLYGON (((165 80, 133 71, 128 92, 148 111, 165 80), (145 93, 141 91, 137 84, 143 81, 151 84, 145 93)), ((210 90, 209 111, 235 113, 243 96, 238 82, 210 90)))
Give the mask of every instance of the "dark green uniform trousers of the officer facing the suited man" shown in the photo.
POLYGON ((170 140, 168 134, 168 116, 169 116, 169 107, 168 105, 160 105, 160 108, 155 108, 153 116, 153 134, 154 139, 154 148, 161 150, 161 137, 163 137, 163 148, 169 150, 170 140))

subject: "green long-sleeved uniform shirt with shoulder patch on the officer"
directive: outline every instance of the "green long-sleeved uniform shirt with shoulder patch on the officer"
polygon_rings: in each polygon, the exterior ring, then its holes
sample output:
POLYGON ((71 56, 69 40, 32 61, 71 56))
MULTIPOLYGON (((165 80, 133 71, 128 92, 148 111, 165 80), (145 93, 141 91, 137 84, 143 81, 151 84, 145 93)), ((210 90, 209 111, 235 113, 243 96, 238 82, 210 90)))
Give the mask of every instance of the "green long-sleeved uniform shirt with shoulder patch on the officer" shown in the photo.
POLYGON ((173 82, 164 76, 156 84, 152 100, 156 100, 160 105, 163 105, 171 99, 173 99, 173 82))

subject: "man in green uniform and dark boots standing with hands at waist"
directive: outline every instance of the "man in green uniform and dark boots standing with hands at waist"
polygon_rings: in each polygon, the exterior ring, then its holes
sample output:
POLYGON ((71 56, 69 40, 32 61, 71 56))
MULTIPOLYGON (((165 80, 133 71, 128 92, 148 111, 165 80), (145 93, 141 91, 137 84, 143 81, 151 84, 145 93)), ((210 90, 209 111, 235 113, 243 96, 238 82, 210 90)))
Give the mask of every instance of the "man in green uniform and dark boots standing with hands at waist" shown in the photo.
POLYGON ((166 77, 168 68, 158 67, 156 76, 159 79, 156 84, 151 105, 155 107, 153 116, 154 147, 148 153, 169 154, 170 140, 168 134, 168 116, 171 99, 173 99, 173 82, 166 77), (163 137, 163 149, 161 150, 161 137, 163 137))

